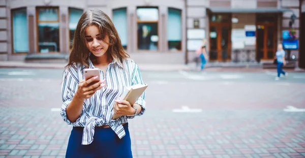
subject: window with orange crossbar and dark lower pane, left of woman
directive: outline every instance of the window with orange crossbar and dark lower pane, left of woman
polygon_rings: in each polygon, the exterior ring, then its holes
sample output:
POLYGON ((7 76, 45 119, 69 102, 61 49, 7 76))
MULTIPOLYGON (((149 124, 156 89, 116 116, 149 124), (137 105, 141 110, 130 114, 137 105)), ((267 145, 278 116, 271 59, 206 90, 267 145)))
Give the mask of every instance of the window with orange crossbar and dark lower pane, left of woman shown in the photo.
POLYGON ((38 51, 59 52, 58 8, 38 8, 38 51))

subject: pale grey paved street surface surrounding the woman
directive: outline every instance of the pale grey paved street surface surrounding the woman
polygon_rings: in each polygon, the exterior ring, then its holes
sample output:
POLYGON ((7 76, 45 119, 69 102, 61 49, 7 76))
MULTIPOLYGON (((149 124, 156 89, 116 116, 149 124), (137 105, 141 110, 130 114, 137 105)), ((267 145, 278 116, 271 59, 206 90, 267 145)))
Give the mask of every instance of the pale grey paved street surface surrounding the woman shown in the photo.
MULTIPOLYGON (((139 157, 305 157, 305 73, 142 71, 139 157)), ((0 69, 0 158, 65 157, 63 69, 0 69)))

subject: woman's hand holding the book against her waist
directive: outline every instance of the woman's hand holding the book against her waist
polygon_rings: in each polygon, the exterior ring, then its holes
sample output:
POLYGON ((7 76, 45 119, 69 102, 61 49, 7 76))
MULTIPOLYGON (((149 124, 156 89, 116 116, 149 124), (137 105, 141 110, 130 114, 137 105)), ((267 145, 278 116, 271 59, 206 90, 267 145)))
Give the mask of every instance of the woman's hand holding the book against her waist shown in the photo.
POLYGON ((135 113, 135 109, 131 107, 130 103, 124 100, 115 100, 113 110, 119 116, 133 115, 135 113))

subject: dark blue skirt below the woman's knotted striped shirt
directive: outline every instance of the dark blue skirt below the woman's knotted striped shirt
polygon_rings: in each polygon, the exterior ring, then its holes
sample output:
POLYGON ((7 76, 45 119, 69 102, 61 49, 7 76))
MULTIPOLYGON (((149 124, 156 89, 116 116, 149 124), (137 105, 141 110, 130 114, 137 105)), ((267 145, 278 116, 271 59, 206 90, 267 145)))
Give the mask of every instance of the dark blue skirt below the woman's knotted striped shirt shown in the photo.
POLYGON ((126 135, 119 139, 111 128, 95 128, 94 140, 82 145, 83 128, 73 127, 66 158, 132 158, 128 123, 123 125, 126 135))

